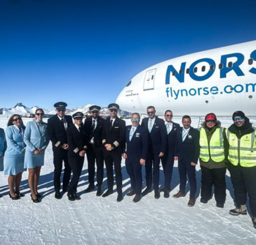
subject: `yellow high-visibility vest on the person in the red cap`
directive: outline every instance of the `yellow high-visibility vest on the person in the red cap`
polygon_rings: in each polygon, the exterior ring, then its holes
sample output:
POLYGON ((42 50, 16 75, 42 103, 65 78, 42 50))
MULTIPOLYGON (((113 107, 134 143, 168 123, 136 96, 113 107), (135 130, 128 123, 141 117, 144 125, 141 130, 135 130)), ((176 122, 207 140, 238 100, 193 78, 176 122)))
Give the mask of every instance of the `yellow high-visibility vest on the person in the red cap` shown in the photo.
POLYGON ((208 144, 206 131, 200 128, 200 155, 199 158, 208 162, 210 158, 216 163, 225 160, 224 145, 223 145, 223 128, 217 128, 210 139, 208 144))

